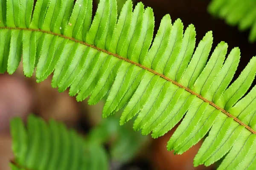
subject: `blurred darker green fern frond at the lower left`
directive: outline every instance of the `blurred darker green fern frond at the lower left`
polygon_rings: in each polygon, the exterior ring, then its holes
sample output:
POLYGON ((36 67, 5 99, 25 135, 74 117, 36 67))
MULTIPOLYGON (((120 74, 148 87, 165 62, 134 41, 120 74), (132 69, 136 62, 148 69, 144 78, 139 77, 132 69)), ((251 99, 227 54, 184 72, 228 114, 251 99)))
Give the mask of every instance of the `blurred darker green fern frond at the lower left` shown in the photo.
POLYGON ((107 170, 105 149, 85 141, 75 130, 30 115, 27 126, 20 118, 11 121, 12 170, 107 170))

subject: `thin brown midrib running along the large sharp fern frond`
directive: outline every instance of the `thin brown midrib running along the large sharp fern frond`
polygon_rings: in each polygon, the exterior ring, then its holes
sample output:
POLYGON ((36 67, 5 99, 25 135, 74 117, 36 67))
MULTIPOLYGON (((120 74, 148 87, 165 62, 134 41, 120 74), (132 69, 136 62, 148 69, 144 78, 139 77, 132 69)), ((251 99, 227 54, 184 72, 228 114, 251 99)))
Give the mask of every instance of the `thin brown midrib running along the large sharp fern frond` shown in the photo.
POLYGON ((207 102, 207 103, 209 103, 209 105, 212 105, 212 107, 214 107, 215 109, 217 109, 217 110, 221 111, 222 113, 226 114, 227 116, 233 118, 236 122, 238 122, 240 125, 244 126, 244 127, 245 127, 247 130, 249 130, 251 133, 256 134, 256 131, 253 130, 250 126, 246 125, 244 122, 242 122, 241 120, 239 120, 237 117, 233 116, 232 114, 228 113, 228 112, 227 112, 226 110, 224 110, 223 108, 220 108, 220 107, 219 107, 218 105, 216 105, 215 103, 209 101, 208 99, 204 98, 204 97, 201 96, 200 94, 195 93, 194 91, 192 91, 192 90, 190 90, 189 88, 187 88, 187 87, 181 85, 180 83, 178 83, 178 82, 176 82, 176 81, 174 81, 174 80, 172 80, 172 79, 169 79, 169 78, 166 77, 165 75, 160 74, 160 73, 158 73, 158 72, 152 70, 151 68, 147 68, 147 67, 141 65, 140 63, 131 61, 130 59, 121 57, 121 56, 119 56, 119 55, 117 55, 117 54, 111 53, 110 51, 104 50, 104 49, 102 49, 102 48, 98 48, 98 47, 96 47, 96 46, 94 46, 94 45, 91 45, 91 44, 88 44, 88 43, 86 43, 86 42, 84 42, 84 41, 76 40, 76 39, 74 39, 74 38, 72 38, 72 37, 67 37, 67 36, 64 36, 64 35, 62 35, 62 34, 56 34, 56 33, 51 32, 51 31, 44 31, 44 30, 41 30, 41 29, 31 29, 31 28, 17 28, 17 27, 15 27, 15 28, 13 28, 13 27, 0 27, 0 29, 40 31, 40 32, 47 33, 47 34, 53 34, 53 35, 56 35, 56 36, 59 36, 59 37, 63 37, 63 38, 68 39, 68 40, 72 40, 72 41, 81 43, 81 44, 86 45, 86 46, 88 46, 88 47, 94 48, 94 49, 96 49, 96 50, 98 50, 98 51, 102 51, 102 52, 104 52, 104 53, 106 53, 106 54, 109 54, 109 55, 112 55, 112 56, 117 57, 117 58, 119 58, 119 59, 122 59, 122 60, 124 60, 124 61, 126 61, 126 62, 129 62, 129 63, 131 63, 131 64, 137 65, 137 66, 139 66, 140 68, 143 68, 143 69, 145 69, 145 70, 147 70, 147 71, 150 71, 151 73, 153 73, 153 74, 155 74, 155 75, 158 75, 158 76, 162 77, 163 79, 165 79, 165 80, 167 80, 167 81, 169 81, 169 82, 172 82, 173 84, 177 85, 178 87, 183 88, 184 90, 188 91, 188 92, 191 93, 192 95, 197 96, 199 99, 202 99, 204 102, 207 102))

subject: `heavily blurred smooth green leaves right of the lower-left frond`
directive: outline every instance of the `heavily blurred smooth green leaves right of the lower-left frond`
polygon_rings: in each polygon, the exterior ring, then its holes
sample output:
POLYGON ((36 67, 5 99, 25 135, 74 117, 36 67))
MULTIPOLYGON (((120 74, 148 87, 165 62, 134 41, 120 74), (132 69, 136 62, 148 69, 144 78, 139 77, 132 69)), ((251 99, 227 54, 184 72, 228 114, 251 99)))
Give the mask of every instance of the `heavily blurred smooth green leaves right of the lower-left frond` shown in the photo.
POLYGON ((108 144, 111 161, 124 164, 137 156, 138 151, 145 146, 149 137, 135 132, 131 127, 131 123, 120 126, 119 117, 110 116, 94 126, 87 139, 94 143, 108 144))

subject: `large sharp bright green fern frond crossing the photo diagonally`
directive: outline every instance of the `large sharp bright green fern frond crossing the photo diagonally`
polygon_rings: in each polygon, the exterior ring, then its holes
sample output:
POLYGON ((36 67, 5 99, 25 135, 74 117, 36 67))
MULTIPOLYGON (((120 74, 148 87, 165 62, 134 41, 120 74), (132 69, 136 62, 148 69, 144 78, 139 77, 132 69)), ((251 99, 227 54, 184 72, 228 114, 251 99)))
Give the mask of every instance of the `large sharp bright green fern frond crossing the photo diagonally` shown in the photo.
POLYGON ((169 15, 151 45, 154 15, 143 3, 133 11, 128 0, 117 21, 116 0, 102 0, 91 24, 92 0, 38 0, 34 11, 33 0, 15 2, 0 3, 2 73, 12 74, 22 54, 27 77, 35 66, 38 82, 54 71, 52 87, 60 92, 70 87, 78 101, 90 96, 93 105, 109 91, 103 116, 126 106, 120 123, 138 114, 134 130, 143 134, 163 136, 182 119, 167 145, 175 153, 185 152, 209 131, 195 166, 208 166, 227 154, 218 169, 255 169, 256 88, 244 96, 255 77, 255 57, 228 86, 239 48, 224 62, 227 44, 220 42, 207 62, 212 32, 194 52, 194 26, 183 34, 181 20, 172 24, 169 15))

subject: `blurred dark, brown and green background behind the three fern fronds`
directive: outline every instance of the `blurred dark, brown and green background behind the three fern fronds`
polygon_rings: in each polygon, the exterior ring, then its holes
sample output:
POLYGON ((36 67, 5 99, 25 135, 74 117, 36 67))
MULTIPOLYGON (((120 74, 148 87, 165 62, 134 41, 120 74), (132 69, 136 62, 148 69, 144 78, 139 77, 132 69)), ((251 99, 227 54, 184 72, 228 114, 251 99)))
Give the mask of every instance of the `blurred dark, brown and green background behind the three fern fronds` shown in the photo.
MULTIPOLYGON (((94 0, 95 13, 97 1, 94 0)), ((118 0, 122 4, 124 0, 118 0)), ((136 0, 134 0, 136 1, 136 0)), ((160 20, 170 14, 172 22, 177 18, 183 21, 184 28, 190 23, 195 25, 197 44, 207 31, 213 31, 213 47, 220 41, 229 45, 229 51, 238 46, 241 49, 241 62, 235 78, 255 56, 255 44, 247 40, 249 31, 239 32, 236 27, 228 26, 223 20, 212 17, 207 12, 210 0, 137 0, 145 7, 153 8, 155 33, 160 20)), ((228 52, 229 52, 228 51, 228 52)), ((102 119, 104 100, 97 105, 88 106, 87 102, 76 102, 68 92, 58 93, 51 87, 52 77, 36 83, 35 77, 26 78, 22 67, 13 75, 0 75, 0 170, 9 170, 9 161, 13 158, 9 120, 14 116, 26 119, 29 113, 42 118, 64 122, 68 127, 94 140, 102 140, 110 156, 111 170, 214 170, 211 167, 193 167, 193 159, 202 142, 199 142, 183 155, 174 155, 166 150, 166 142, 175 129, 159 139, 141 136, 134 132, 132 124, 119 126, 119 116, 102 119), (91 135, 91 134, 96 135, 91 135)), ((255 84, 255 82, 254 82, 255 84)))

